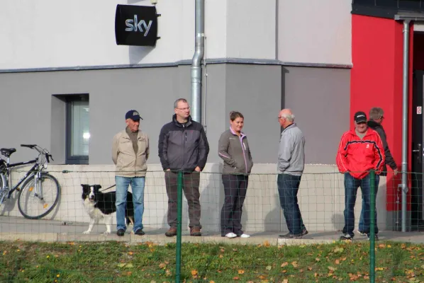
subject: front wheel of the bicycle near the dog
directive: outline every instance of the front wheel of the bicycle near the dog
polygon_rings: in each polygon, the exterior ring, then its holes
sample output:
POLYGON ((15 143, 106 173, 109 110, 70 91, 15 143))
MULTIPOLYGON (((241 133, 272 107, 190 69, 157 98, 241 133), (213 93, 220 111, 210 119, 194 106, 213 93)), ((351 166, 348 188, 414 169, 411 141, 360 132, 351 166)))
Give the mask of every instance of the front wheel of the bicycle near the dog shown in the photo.
POLYGON ((60 185, 50 174, 42 174, 35 192, 35 178, 23 183, 18 195, 18 209, 28 219, 40 219, 49 214, 60 199, 60 185))

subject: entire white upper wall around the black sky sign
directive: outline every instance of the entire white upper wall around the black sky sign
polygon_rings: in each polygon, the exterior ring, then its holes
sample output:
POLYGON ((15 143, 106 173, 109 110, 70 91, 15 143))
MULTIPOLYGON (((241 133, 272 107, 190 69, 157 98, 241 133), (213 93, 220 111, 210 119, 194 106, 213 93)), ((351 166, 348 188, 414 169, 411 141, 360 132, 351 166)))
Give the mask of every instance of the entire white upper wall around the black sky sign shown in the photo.
MULTIPOLYGON (((206 58, 351 64, 351 0, 206 0, 206 58)), ((0 70, 169 63, 194 52, 194 0, 159 0, 156 47, 118 46, 116 4, 3 0, 0 70)))

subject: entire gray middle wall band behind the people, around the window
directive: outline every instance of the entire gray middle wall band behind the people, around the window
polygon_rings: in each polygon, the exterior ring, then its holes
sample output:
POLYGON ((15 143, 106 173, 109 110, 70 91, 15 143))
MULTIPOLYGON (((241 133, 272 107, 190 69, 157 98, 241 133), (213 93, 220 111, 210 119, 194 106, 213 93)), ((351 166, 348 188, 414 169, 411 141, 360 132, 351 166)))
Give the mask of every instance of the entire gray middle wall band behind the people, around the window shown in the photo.
MULTIPOLYGON (((350 71, 278 65, 210 64, 206 72, 208 162, 220 162, 218 139, 228 129, 228 113, 245 115, 255 163, 276 163, 279 110, 294 110, 306 134, 306 162, 334 163, 340 135, 349 127, 350 71)), ((205 81, 203 81, 205 83, 205 81)), ((190 100, 190 67, 0 74, 1 147, 16 147, 13 161, 33 156, 19 144, 50 149, 55 163, 65 162, 65 102, 55 95, 89 93, 89 163, 111 164, 111 140, 125 128, 124 115, 136 109, 141 129, 150 136, 149 163, 159 163, 157 139, 173 115, 174 100, 190 100)))

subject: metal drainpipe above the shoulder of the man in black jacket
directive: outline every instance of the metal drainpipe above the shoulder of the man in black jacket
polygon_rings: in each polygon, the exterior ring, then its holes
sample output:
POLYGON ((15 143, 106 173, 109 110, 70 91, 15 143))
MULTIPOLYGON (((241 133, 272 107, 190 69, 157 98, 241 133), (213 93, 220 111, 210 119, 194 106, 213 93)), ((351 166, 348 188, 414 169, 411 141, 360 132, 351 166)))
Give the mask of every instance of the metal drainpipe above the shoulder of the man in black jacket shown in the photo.
POLYGON ((201 123, 201 60, 205 51, 205 0, 196 0, 196 50, 191 63, 191 117, 201 123))

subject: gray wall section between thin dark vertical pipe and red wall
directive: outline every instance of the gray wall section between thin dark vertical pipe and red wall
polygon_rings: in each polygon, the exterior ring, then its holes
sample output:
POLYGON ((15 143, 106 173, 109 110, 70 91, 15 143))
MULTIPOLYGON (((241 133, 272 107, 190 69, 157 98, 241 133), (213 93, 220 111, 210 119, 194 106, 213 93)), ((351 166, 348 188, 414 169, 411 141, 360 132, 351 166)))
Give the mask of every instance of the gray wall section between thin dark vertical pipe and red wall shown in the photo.
POLYGON ((309 164, 335 164, 343 132, 350 129, 350 69, 283 67, 283 105, 306 138, 309 164))

